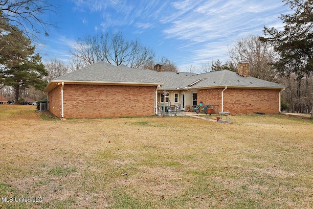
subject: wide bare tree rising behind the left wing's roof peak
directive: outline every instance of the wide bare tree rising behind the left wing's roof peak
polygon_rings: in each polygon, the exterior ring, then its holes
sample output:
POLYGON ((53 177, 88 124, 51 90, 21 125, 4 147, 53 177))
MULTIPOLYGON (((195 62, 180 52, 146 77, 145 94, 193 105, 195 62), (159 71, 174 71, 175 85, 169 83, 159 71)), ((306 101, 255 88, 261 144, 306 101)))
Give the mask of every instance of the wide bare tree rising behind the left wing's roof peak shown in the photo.
POLYGON ((143 46, 138 40, 127 41, 120 32, 77 39, 74 50, 70 53, 73 59, 85 65, 105 61, 116 66, 124 64, 130 68, 140 68, 155 56, 152 49, 143 46))

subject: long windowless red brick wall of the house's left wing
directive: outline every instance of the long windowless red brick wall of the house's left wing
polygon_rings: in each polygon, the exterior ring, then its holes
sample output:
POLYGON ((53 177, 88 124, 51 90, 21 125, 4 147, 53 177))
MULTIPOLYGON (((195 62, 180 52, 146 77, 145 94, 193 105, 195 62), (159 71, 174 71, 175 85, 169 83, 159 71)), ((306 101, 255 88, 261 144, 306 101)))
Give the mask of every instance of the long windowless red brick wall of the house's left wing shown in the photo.
MULTIPOLYGON (((64 85, 64 117, 154 115, 152 86, 64 85)), ((61 111, 60 111, 61 113, 61 111)))

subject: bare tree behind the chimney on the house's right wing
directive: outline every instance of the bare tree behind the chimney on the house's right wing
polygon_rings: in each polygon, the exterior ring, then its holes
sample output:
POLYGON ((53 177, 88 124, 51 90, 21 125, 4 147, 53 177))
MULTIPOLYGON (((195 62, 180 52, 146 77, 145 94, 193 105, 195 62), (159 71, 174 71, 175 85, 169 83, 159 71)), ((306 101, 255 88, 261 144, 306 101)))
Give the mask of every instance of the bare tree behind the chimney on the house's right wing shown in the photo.
POLYGON ((246 59, 249 62, 249 75, 252 77, 268 81, 275 81, 277 78, 277 71, 270 64, 278 55, 271 46, 262 43, 256 36, 237 41, 228 49, 228 54, 234 66, 246 59))

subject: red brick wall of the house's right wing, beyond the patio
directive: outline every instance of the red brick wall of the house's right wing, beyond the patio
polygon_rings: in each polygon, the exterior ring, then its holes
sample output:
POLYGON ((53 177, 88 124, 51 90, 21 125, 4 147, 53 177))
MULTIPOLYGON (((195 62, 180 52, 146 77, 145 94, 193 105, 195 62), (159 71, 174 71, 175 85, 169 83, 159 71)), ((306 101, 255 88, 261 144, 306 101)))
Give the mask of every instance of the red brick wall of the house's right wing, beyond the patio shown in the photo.
MULTIPOLYGON (((198 90, 198 102, 217 104, 222 109, 224 89, 198 90)), ((224 91, 224 111, 231 114, 279 113, 280 90, 226 89, 224 91)))

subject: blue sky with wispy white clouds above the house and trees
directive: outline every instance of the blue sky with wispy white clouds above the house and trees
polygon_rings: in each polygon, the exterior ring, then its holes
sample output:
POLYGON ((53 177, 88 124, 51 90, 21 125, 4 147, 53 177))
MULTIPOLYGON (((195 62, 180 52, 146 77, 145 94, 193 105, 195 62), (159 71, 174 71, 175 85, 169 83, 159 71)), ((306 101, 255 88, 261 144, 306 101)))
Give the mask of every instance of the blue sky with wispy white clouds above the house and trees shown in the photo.
POLYGON ((180 71, 213 59, 227 61, 228 48, 264 26, 282 28, 278 16, 289 12, 281 0, 50 0, 58 6, 52 19, 59 29, 37 47, 44 58, 67 63, 77 38, 121 31, 165 56, 180 71))

